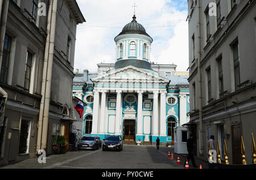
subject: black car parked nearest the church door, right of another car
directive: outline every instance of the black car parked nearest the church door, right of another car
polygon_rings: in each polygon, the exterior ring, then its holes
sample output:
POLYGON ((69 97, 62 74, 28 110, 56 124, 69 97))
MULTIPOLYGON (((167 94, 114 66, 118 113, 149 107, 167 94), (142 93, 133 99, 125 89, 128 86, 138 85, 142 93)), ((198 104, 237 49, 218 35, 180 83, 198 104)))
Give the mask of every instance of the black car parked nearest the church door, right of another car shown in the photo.
POLYGON ((121 136, 109 135, 105 139, 105 142, 102 145, 102 151, 106 151, 109 149, 114 149, 117 151, 123 150, 123 141, 122 141, 121 136))

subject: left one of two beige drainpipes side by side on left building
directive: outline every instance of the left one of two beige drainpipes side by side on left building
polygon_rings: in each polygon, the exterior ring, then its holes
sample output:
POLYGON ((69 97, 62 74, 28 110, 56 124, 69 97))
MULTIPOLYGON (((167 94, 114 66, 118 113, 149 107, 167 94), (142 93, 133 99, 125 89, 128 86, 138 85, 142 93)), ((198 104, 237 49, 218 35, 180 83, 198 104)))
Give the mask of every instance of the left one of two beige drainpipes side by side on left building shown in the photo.
POLYGON ((51 19, 52 19, 52 0, 49 1, 49 11, 47 18, 47 38, 46 38, 46 49, 44 51, 44 66, 43 66, 43 77, 42 77, 42 100, 40 102, 40 112, 38 121, 38 140, 36 145, 36 152, 42 149, 42 130, 43 130, 43 115, 45 109, 45 97, 46 97, 46 79, 47 79, 47 67, 49 58, 49 41, 51 35, 51 19))

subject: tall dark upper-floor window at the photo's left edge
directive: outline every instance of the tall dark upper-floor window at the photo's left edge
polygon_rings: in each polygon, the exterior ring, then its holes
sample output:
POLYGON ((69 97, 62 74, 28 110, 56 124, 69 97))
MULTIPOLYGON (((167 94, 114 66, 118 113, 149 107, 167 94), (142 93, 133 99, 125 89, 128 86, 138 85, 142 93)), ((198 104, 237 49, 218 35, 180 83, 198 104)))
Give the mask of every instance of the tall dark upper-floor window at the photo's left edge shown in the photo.
POLYGON ((1 78, 0 78, 1 83, 7 83, 10 53, 11 53, 11 37, 8 36, 8 35, 5 35, 5 42, 4 42, 4 45, 3 45, 1 78))

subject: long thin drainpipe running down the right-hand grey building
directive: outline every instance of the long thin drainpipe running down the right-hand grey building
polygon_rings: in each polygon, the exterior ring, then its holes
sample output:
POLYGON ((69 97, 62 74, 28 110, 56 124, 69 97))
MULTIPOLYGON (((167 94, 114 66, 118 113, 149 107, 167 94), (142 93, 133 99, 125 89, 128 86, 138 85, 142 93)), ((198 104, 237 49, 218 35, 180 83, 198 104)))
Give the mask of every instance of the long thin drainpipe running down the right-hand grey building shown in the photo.
POLYGON ((203 107, 202 107, 202 77, 201 77, 201 4, 198 2, 198 23, 197 23, 197 40, 198 40, 198 59, 197 59, 197 73, 198 73, 198 91, 199 91, 199 128, 200 128, 200 156, 204 155, 204 141, 203 141, 203 107))

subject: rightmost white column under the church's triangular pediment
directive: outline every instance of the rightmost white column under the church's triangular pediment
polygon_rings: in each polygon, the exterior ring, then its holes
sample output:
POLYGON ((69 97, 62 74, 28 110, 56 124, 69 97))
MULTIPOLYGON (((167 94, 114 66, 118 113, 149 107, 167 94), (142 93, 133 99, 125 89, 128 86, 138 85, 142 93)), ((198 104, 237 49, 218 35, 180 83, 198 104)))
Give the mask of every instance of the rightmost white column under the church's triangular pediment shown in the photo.
POLYGON ((160 95, 160 136, 166 136, 166 93, 160 95))

